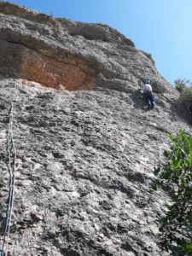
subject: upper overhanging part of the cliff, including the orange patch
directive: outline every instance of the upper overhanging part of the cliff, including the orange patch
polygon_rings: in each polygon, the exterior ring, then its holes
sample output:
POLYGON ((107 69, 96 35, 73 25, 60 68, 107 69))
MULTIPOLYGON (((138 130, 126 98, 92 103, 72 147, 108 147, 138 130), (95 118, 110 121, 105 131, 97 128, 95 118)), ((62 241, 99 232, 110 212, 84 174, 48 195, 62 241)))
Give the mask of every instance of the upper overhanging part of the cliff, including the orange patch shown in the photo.
POLYGON ((12 3, 0 3, 0 13, 1 51, 9 56, 0 61, 0 73, 55 89, 96 90, 108 84, 122 91, 137 90, 147 75, 171 89, 151 55, 109 26, 54 19, 12 3))

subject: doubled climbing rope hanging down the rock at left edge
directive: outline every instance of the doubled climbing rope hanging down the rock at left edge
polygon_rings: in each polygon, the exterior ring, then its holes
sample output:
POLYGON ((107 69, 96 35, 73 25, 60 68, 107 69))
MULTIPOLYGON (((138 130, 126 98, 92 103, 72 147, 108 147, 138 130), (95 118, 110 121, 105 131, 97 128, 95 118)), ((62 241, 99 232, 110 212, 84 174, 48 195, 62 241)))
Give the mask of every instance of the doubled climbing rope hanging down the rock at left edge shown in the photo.
POLYGON ((15 189, 15 144, 13 139, 13 122, 14 122, 14 103, 11 103, 9 110, 9 128, 7 133, 7 153, 8 153, 8 171, 9 171, 9 198, 8 207, 5 218, 5 228, 3 234, 3 246, 0 251, 0 256, 7 256, 9 244, 9 231, 11 225, 11 215, 14 204, 14 189, 15 189))

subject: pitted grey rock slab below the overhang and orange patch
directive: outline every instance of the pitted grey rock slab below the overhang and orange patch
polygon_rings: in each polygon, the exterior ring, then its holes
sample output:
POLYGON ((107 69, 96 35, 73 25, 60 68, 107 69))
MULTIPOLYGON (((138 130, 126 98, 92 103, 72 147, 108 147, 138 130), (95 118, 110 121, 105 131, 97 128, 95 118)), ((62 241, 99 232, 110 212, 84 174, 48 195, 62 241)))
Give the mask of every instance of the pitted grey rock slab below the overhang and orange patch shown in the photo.
POLYGON ((189 125, 175 96, 147 112, 131 93, 58 92, 0 80, 1 208, 14 102, 17 151, 10 255, 166 255, 157 245, 166 194, 151 189, 167 137, 189 125))

